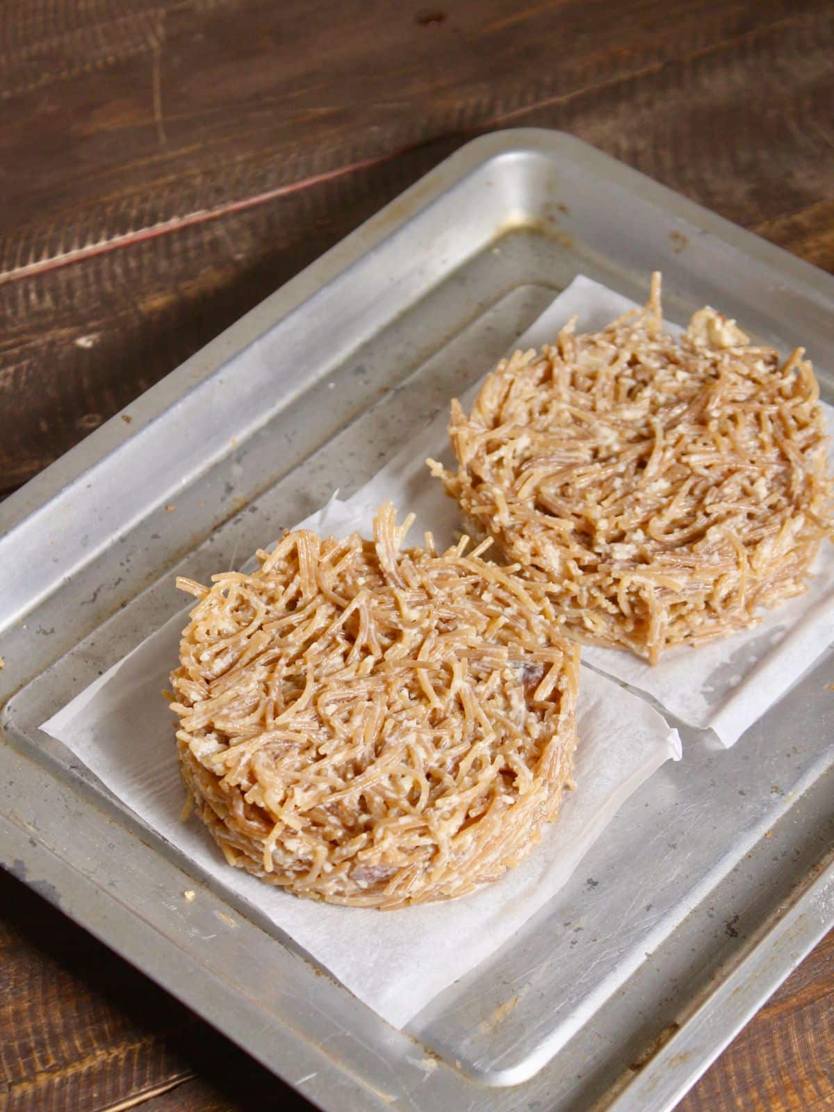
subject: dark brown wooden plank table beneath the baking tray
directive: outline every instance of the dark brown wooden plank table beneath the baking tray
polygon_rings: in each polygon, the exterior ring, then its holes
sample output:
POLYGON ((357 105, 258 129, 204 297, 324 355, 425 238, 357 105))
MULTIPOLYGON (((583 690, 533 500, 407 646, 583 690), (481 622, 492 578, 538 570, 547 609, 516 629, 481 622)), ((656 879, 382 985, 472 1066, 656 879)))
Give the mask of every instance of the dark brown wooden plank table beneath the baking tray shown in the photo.
MULTIPOLYGON (((6 0, 0 490, 479 131, 572 131, 834 269, 833 57, 826 0, 6 0)), ((0 1109, 307 1106, 0 883, 0 1109)), ((834 1108, 833 956, 681 1110, 834 1108)))

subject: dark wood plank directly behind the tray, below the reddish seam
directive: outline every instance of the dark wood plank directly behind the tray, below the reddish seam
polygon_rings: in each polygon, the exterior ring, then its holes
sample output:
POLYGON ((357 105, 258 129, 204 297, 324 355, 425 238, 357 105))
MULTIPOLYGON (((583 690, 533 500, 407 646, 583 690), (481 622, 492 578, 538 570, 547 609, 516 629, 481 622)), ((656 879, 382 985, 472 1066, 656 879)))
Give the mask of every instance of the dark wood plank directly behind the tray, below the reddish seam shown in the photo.
MULTIPOLYGON (((821 111, 834 100, 833 52, 834 11, 800 11, 674 64, 499 109, 487 126, 574 131, 834 268, 834 113, 821 111)), ((0 285, 0 490, 71 447, 474 133, 0 285)))

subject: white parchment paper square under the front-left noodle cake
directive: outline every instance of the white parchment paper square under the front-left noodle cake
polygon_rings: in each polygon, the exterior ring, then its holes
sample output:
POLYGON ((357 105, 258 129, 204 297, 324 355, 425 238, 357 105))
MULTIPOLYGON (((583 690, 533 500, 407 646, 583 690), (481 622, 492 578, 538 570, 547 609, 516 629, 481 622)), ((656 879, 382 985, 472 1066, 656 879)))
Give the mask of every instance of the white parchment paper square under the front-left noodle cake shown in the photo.
MULTIPOLYGON (((369 516, 370 515, 370 516, 369 516)), ((366 513, 337 499, 305 525, 367 533, 366 513)), ((173 716, 161 697, 178 658, 179 612, 41 727, 72 752, 151 830, 289 934, 395 1026, 494 953, 562 887, 622 804, 681 742, 623 687, 582 669, 575 778, 558 821, 518 868, 448 903, 378 912, 299 900, 232 868, 197 818, 180 821, 183 790, 173 716)))

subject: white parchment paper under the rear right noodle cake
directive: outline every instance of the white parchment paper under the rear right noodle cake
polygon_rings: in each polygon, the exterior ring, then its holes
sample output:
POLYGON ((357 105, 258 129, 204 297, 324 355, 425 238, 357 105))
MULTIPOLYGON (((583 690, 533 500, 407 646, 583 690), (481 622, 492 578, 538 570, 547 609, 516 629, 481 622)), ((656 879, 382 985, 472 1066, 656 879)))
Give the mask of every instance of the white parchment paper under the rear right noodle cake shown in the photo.
MULTIPOLYGON (((545 309, 510 350, 553 342, 559 328, 574 315, 577 332, 595 331, 634 301, 589 278, 578 277, 545 309)), ((719 307, 718 307, 719 308, 719 307)), ((739 321, 742 328, 744 321, 739 321)), ((682 329, 667 325, 679 335, 682 329)), ((812 356, 814 353, 811 353, 812 356)), ((480 388, 461 396, 468 408, 480 388)), ((834 409, 823 405, 828 423, 830 466, 834 468, 834 409)), ((418 526, 430 528, 446 543, 459 527, 457 505, 430 477, 424 459, 431 456, 453 466, 448 447, 448 410, 435 420, 363 489, 348 505, 359 510, 375 500, 390 498, 401 509, 417 513, 418 526)), ((659 664, 645 664, 631 653, 612 648, 586 648, 583 659, 653 696, 661 706, 691 726, 713 729, 725 746, 733 745, 768 707, 798 679, 834 641, 834 545, 824 544, 808 590, 776 610, 764 612, 752 629, 702 645, 681 646, 665 653, 659 664)))

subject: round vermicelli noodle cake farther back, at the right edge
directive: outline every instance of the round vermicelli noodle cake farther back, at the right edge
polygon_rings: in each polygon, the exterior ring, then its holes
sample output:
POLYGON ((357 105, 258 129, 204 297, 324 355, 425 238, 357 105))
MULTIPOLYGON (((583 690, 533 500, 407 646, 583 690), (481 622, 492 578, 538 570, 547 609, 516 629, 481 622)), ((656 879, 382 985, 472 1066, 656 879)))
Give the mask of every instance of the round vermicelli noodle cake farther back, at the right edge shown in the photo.
POLYGON ((453 403, 467 529, 546 585, 565 632, 656 663, 751 626, 805 589, 831 534, 826 429, 811 363, 713 309, 681 339, 652 297, 599 332, 572 320, 453 403))

